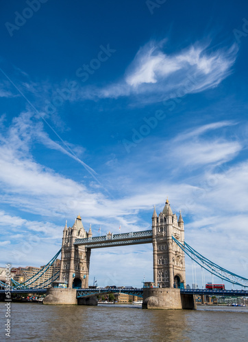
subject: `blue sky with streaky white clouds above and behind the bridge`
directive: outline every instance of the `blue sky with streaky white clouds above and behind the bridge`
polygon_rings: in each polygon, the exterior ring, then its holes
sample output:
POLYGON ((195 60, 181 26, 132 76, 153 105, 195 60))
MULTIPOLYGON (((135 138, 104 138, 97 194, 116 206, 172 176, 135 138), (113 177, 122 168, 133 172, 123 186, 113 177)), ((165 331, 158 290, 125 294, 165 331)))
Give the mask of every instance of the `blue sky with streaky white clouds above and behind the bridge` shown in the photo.
MULTIPOLYGON (((188 244, 247 277, 246 1, 6 1, 0 23, 1 265, 49 261, 79 213, 149 229, 169 196, 188 244)), ((152 246, 92 251, 99 285, 144 274, 152 246)))

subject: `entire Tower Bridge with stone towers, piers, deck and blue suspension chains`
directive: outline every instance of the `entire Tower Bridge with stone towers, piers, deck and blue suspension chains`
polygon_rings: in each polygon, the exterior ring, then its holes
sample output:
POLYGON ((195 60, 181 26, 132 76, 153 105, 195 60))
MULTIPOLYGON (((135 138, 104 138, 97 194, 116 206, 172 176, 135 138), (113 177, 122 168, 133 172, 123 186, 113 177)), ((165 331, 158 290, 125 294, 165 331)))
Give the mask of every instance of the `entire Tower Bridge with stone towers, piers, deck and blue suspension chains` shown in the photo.
MULTIPOLYGON (((19 284, 12 279, 13 288, 10 293, 44 293, 47 297, 44 304, 89 304, 89 298, 99 293, 112 293, 116 289, 88 289, 88 276, 90 269, 90 254, 95 248, 114 246, 129 246, 135 244, 153 245, 153 282, 150 287, 143 289, 121 289, 118 291, 140 295, 143 298, 143 308, 195 308, 194 294, 215 295, 248 295, 246 290, 219 290, 219 289, 186 289, 185 254, 202 269, 218 276, 222 280, 248 288, 248 279, 227 271, 206 259, 184 241, 184 220, 181 212, 179 217, 173 213, 169 200, 166 200, 164 209, 156 213, 154 207, 151 230, 129 233, 107 233, 103 236, 92 237, 91 227, 87 232, 78 215, 73 226, 64 226, 61 248, 60 272, 54 274, 49 280, 40 284, 40 288, 32 287, 37 279, 49 269, 58 257, 60 251, 45 265, 38 274, 19 284), (58 280, 58 284, 68 287, 46 287, 58 280), (78 289, 79 288, 79 289, 78 289)), ((0 287, 5 287, 0 282, 0 287)), ((0 290, 1 292, 6 289, 0 290)), ((95 300, 95 304, 97 301, 95 300)))

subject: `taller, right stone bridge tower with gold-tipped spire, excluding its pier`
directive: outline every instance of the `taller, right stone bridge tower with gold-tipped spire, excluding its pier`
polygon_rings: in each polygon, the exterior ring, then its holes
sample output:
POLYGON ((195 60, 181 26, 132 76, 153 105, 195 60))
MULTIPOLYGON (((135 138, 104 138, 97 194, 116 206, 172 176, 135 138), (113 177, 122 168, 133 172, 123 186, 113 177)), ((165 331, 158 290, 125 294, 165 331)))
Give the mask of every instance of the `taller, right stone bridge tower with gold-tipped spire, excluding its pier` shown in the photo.
POLYGON ((184 221, 179 219, 166 200, 163 211, 157 215, 154 207, 153 231, 153 282, 154 286, 186 287, 184 251, 173 241, 172 236, 184 244, 184 221))

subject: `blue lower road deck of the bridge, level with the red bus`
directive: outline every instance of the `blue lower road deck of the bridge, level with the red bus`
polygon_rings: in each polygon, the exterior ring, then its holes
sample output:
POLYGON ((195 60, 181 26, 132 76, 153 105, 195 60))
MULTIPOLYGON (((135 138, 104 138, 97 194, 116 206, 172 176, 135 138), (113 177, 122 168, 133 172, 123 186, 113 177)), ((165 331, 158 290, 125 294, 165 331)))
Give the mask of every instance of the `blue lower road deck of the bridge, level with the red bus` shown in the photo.
MULTIPOLYGON (((7 290, 6 290, 7 291, 7 290)), ((219 290, 219 289, 180 289, 181 293, 194 295, 234 295, 248 297, 248 291, 245 290, 219 290)), ((10 293, 46 293, 47 289, 11 289, 10 293)), ((5 293, 5 289, 0 290, 0 295, 5 293)), ((92 297, 93 295, 101 295, 108 293, 127 293, 129 295, 137 295, 142 297, 143 288, 141 289, 114 289, 101 287, 99 289, 77 289, 77 298, 92 297)))

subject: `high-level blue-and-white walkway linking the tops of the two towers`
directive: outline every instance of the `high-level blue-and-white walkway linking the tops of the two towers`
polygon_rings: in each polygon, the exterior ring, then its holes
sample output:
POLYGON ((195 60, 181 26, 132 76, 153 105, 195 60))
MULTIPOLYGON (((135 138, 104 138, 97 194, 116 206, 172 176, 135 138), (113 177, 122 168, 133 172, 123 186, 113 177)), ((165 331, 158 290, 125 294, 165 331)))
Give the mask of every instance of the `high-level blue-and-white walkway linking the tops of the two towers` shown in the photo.
POLYGON ((98 237, 88 237, 85 239, 75 239, 75 246, 85 246, 86 248, 102 248, 113 246, 127 246, 137 244, 152 243, 152 230, 113 234, 108 233, 98 237))

